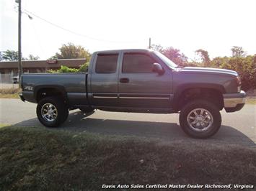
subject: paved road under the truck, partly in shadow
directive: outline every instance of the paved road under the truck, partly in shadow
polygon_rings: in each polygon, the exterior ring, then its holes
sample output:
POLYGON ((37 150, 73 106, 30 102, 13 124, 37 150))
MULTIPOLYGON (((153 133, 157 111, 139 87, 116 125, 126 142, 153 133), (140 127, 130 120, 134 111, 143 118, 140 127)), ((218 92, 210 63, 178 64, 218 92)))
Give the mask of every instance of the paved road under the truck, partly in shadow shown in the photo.
MULTIPOLYGON (((35 114, 36 104, 18 99, 0 99, 0 124, 43 127, 35 114)), ((247 104, 242 111, 221 111, 220 131, 208 141, 213 144, 239 144, 256 148, 256 105, 247 104)), ((178 124, 178 114, 116 113, 95 111, 86 116, 71 111, 58 131, 89 131, 99 134, 146 137, 160 141, 198 141, 187 137, 178 124)), ((203 143, 203 142, 202 142, 203 143)))

